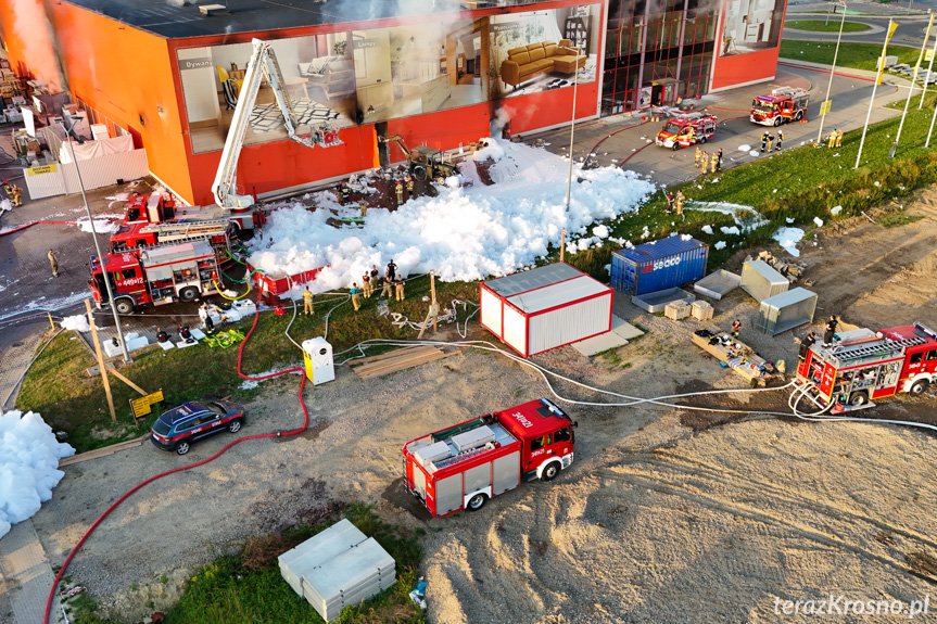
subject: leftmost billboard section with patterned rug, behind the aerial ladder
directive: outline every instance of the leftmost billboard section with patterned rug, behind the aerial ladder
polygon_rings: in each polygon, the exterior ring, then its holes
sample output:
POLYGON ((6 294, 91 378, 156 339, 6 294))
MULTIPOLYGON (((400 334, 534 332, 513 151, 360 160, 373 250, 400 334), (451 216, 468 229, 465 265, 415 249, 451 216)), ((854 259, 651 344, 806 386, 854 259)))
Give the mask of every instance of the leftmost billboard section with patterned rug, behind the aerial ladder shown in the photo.
MULTIPOLYGON (((346 33, 278 39, 270 46, 300 135, 355 124, 355 64, 346 33)), ((193 153, 224 148, 252 52, 246 42, 178 50, 193 153)), ((283 115, 264 79, 244 144, 286 138, 283 115)))

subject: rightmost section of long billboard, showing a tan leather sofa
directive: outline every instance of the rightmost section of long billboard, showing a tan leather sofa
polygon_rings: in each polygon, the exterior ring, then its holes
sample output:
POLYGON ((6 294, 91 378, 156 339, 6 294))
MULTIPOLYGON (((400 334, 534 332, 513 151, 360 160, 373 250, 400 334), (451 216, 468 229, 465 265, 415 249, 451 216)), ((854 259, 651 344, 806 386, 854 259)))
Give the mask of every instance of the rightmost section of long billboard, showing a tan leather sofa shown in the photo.
POLYGON ((599 4, 490 18, 492 98, 592 82, 598 67, 599 4), (578 75, 577 75, 578 73, 578 75))

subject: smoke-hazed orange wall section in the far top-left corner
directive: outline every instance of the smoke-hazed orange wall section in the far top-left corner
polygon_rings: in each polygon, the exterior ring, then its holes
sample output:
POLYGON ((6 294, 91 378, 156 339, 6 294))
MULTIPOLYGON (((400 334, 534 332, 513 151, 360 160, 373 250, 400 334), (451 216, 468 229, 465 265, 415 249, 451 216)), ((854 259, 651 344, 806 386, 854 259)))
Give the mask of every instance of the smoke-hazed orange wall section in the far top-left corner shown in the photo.
POLYGON ((55 46, 42 0, 0 0, 0 24, 10 67, 17 76, 35 76, 55 93, 63 90, 55 46))

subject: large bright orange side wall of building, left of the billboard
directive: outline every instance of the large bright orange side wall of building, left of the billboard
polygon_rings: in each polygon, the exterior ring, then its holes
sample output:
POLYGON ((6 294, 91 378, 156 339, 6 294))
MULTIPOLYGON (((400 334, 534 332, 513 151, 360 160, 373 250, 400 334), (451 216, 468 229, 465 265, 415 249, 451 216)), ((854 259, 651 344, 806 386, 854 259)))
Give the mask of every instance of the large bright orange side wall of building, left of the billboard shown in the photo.
POLYGON ((130 132, 150 170, 191 201, 166 40, 64 2, 51 9, 73 97, 130 132))

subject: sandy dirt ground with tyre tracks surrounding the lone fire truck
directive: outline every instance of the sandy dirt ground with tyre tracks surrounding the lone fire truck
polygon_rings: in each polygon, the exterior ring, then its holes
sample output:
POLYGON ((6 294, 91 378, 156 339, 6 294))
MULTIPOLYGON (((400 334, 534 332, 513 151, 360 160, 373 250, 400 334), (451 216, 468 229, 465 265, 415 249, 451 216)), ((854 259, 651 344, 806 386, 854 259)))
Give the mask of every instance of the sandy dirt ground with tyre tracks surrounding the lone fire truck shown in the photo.
MULTIPOLYGON (((816 280, 818 318, 834 311, 873 328, 937 324, 935 202, 933 192, 915 202, 910 211, 924 218, 908 226, 857 221, 848 232, 821 235, 816 246, 808 243, 802 259, 816 280)), ((750 328, 757 314, 740 291, 714 307, 707 324, 723 329, 734 318, 750 328)), ((689 344, 701 323, 637 314, 623 300, 616 310, 648 330, 619 349, 626 367, 570 348, 536 361, 637 396, 747 387, 689 344)), ((747 331, 743 339, 769 359, 796 360, 789 332, 770 339, 747 331)), ((292 375, 267 382, 248 406, 243 434, 301 422, 297 385, 292 375)), ((569 384, 557 391, 610 400, 569 384)), ((151 599, 172 603, 191 570, 214 553, 332 500, 356 499, 377 502, 391 521, 427 529, 429 617, 441 624, 776 622, 776 598, 910 601, 932 591, 937 437, 917 430, 570 406, 580 422, 577 461, 555 482, 523 484, 479 512, 436 520, 403 492, 405 442, 548 392, 530 369, 479 351, 367 382, 342 367, 335 382, 307 389, 308 432, 248 442, 153 483, 98 529, 71 573, 105 612, 132 621, 151 599)), ((786 391, 772 391, 725 403, 778 409, 786 398, 786 391)), ((891 399, 871 415, 933 419, 935 405, 927 396, 891 399)), ((227 434, 204 441, 185 459, 148 444, 67 468, 34 518, 52 563, 124 492, 229 441, 227 434)))

